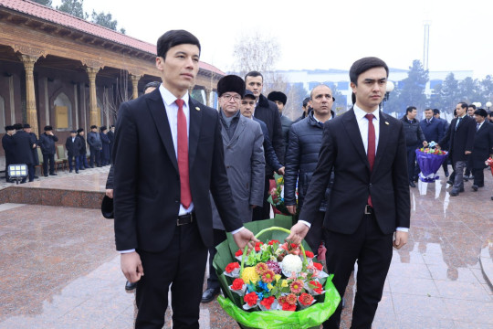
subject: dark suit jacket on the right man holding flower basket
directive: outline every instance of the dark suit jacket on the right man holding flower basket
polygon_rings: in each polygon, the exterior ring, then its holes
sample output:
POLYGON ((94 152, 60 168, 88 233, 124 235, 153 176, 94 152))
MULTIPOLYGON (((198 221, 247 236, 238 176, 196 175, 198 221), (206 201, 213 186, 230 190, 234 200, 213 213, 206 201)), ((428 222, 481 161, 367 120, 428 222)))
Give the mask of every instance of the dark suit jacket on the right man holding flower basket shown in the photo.
POLYGON ((325 122, 320 158, 299 219, 316 218, 334 170, 334 184, 324 219, 331 231, 351 234, 364 217, 372 194, 375 218, 384 234, 409 228, 410 196, 403 122, 380 112, 380 136, 372 173, 362 136, 351 109, 325 122))

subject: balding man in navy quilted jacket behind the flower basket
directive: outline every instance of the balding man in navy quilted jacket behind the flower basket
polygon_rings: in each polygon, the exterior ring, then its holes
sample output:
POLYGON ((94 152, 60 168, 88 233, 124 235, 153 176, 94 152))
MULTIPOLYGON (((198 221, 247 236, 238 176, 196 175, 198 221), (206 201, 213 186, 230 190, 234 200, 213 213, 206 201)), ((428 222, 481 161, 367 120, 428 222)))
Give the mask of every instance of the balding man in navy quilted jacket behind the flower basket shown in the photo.
MULTIPOLYGON (((313 111, 300 122, 294 123, 289 131, 289 145, 286 153, 286 174, 284 175, 284 203, 288 211, 295 215, 297 211, 296 183, 298 181, 298 207, 303 206, 311 175, 319 162, 323 123, 334 117, 332 90, 320 84, 311 90, 313 111)), ((330 185, 331 186, 331 185, 330 185)), ((305 237, 312 250, 319 249, 322 237, 322 223, 327 208, 330 187, 320 204, 317 218, 311 223, 305 237)))

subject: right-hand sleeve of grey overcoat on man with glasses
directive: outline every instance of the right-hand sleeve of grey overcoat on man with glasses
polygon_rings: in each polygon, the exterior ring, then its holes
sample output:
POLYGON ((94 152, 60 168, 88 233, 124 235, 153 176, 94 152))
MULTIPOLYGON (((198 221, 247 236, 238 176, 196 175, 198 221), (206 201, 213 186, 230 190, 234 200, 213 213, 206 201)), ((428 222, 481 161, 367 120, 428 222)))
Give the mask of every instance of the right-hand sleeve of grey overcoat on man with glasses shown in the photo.
POLYGON ((264 180, 266 179, 265 168, 266 160, 264 157, 264 134, 260 125, 257 124, 255 141, 251 157, 251 183, 250 183, 250 205, 262 207, 264 200, 264 180))

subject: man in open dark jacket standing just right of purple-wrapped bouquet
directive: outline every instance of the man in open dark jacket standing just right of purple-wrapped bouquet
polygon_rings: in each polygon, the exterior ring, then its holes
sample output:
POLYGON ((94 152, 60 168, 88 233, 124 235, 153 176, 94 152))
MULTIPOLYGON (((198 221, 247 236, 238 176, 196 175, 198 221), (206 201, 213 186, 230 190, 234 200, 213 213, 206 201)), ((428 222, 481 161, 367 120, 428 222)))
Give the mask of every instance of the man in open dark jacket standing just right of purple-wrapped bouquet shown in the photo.
POLYGON ((464 169, 474 144, 476 122, 467 115, 466 111, 465 102, 459 102, 456 105, 457 117, 450 122, 444 138, 439 142, 440 145, 449 143, 448 157, 452 159, 452 166, 456 173, 450 196, 458 196, 460 192, 464 192, 464 169))

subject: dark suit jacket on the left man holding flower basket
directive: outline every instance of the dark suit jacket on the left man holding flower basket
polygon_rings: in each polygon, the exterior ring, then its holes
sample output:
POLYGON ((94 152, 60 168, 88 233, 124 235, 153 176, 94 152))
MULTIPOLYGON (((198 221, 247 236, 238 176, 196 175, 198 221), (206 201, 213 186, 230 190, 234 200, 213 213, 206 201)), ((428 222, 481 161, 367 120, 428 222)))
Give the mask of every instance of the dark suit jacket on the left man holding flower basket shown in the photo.
MULTIPOLYGON (((218 112, 190 98, 189 175, 196 225, 213 245, 209 190, 226 231, 243 226, 224 162, 218 112)), ((159 89, 121 104, 113 146, 115 239, 118 250, 162 251, 173 239, 180 175, 159 89)))

